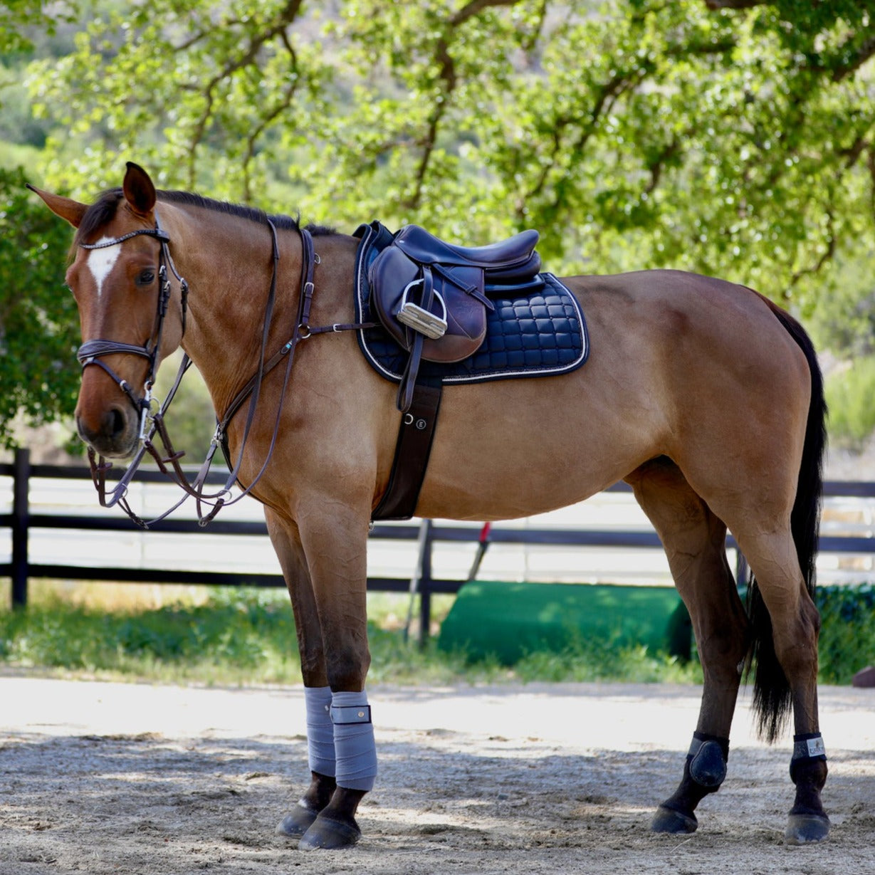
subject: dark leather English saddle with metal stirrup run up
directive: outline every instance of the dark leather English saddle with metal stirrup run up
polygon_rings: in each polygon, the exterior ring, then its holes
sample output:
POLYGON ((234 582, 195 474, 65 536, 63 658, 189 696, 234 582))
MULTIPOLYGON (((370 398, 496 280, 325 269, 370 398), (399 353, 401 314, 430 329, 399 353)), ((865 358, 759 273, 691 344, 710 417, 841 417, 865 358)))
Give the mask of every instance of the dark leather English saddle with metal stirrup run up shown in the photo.
MULTIPOLYGON (((397 404, 409 410, 421 361, 468 358, 486 337, 490 295, 543 284, 538 232, 522 231, 488 246, 457 246, 407 225, 368 269, 371 304, 395 342, 409 353, 397 404)), ((504 297, 507 297, 505 295, 504 297)))

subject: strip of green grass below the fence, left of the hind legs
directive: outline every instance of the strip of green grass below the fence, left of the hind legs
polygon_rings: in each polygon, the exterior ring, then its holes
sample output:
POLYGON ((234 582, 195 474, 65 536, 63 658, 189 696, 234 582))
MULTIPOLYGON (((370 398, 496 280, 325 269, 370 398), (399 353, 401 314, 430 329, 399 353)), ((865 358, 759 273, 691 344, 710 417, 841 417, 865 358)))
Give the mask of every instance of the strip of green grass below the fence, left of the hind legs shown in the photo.
MULTIPOLYGON (((116 586, 107 584, 77 587, 75 593, 35 587, 26 611, 0 612, 0 665, 165 683, 301 683, 295 627, 283 591, 185 589, 171 603, 144 606, 143 588, 136 586, 128 605, 111 592, 116 586), (102 602, 110 596, 108 608, 102 602)), ((434 599, 433 632, 451 601, 434 599)), ((471 662, 465 653, 438 649, 434 636, 426 648, 417 646, 415 630, 408 639, 408 608, 406 596, 369 596, 370 683, 701 681, 695 661, 684 665, 647 648, 610 641, 574 641, 562 653, 532 653, 513 667, 491 658, 471 662)))

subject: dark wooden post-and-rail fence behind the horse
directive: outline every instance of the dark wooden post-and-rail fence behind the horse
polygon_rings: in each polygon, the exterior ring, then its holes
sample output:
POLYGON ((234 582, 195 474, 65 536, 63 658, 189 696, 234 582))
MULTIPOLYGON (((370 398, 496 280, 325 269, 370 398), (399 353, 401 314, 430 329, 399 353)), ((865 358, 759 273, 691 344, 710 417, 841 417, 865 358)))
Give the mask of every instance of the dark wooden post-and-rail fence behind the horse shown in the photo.
MULTIPOLYGON (((32 479, 89 480, 88 470, 80 465, 31 465, 30 453, 18 450, 11 464, 0 464, 0 477, 12 479, 11 513, 0 514, 0 529, 11 529, 11 562, 0 563, 0 577, 11 577, 11 602, 13 607, 25 606, 28 580, 31 577, 50 577, 73 580, 105 580, 134 583, 210 584, 227 586, 283 586, 283 578, 276 573, 239 572, 215 570, 173 570, 137 567, 97 567, 73 563, 32 563, 28 553, 31 531, 36 529, 73 529, 82 531, 127 531, 131 522, 121 515, 46 514, 31 513, 30 485, 32 479)), ((139 482, 165 483, 158 471, 143 471, 137 475, 139 482)), ((207 482, 224 483, 224 475, 216 473, 207 482)), ((611 492, 628 492, 623 483, 610 487, 611 492)), ((875 498, 875 483, 863 481, 828 481, 824 495, 850 499, 875 498)), ((822 553, 861 554, 875 556, 875 537, 867 527, 864 535, 821 535, 822 553)), ((192 519, 169 519, 156 523, 151 530, 163 533, 194 534, 203 532, 198 522, 192 519)), ((267 535, 263 521, 217 519, 207 531, 212 535, 267 535)), ((478 541, 479 530, 444 522, 418 522, 409 524, 376 524, 372 539, 387 541, 418 542, 419 558, 416 574, 411 577, 368 577, 370 591, 407 592, 416 591, 420 600, 420 629, 427 634, 430 625, 430 598, 436 593, 458 592, 464 580, 436 578, 432 575, 432 548, 437 542, 473 544, 478 541)), ((601 547, 601 548, 660 548, 660 540, 650 529, 595 529, 595 528, 491 528, 489 542, 492 544, 537 544, 553 547, 601 547)), ((735 549, 732 536, 727 538, 727 548, 735 549)), ((739 554, 740 557, 740 554, 739 554)), ((739 577, 744 573, 737 569, 739 577)), ((412 569, 411 569, 412 572, 412 569)))

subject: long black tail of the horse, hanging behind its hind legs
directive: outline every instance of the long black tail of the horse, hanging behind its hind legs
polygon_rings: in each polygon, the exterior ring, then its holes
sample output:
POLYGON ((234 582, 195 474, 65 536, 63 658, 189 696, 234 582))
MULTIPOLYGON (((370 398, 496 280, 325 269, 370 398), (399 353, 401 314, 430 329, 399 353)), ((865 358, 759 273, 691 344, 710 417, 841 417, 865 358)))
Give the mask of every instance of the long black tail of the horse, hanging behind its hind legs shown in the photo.
MULTIPOLYGON (((827 440, 827 407, 823 397, 823 374, 814 345, 802 325, 768 298, 763 297, 763 300, 802 349, 811 374, 809 416, 805 427, 805 443, 802 446, 796 498, 790 514, 790 528, 802 577, 809 595, 814 598, 815 560, 823 497, 823 451, 827 440)), ((792 708, 792 697, 787 677, 774 651, 772 620, 753 573, 748 587, 747 613, 753 631, 747 663, 748 674, 753 664, 756 665, 753 681, 753 711, 757 718, 760 736, 773 743, 781 735, 787 721, 792 708)))

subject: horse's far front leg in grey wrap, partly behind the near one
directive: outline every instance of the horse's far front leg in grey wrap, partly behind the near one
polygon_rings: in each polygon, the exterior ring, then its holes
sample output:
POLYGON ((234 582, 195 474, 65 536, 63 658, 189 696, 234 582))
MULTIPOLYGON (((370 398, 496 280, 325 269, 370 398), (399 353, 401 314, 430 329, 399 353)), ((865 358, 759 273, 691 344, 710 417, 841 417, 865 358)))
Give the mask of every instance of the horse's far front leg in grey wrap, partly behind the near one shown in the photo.
POLYGON ((334 727, 329 711, 332 694, 325 671, 325 650, 316 599, 297 526, 269 508, 265 508, 264 517, 276 557, 283 569, 283 578, 295 616, 297 648, 304 681, 307 759, 311 772, 310 786, 295 808, 283 817, 276 832, 300 840, 310 829, 318 813, 331 802, 337 788, 334 727))

